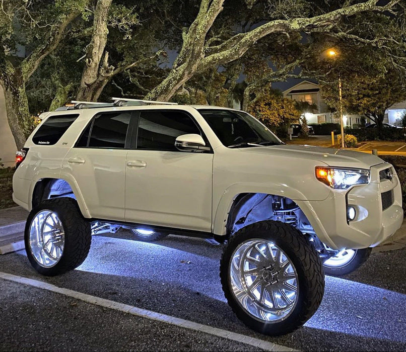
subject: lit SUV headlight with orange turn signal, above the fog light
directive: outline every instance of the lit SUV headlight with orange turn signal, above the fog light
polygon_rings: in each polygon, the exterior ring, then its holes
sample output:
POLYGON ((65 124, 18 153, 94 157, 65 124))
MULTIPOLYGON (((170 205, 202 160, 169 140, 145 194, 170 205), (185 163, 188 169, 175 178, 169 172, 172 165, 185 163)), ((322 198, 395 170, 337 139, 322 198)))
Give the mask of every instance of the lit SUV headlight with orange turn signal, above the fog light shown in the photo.
POLYGON ((369 183, 369 170, 360 168, 316 166, 316 179, 334 189, 345 190, 369 183))

